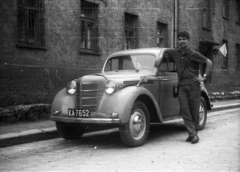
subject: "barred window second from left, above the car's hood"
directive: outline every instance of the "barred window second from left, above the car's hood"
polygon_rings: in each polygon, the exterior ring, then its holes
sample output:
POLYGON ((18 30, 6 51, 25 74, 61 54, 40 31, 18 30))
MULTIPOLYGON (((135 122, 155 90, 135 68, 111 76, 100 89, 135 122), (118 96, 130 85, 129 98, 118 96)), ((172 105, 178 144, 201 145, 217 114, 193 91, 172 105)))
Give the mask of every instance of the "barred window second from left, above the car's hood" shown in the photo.
POLYGON ((98 4, 81 1, 80 48, 98 53, 98 4))

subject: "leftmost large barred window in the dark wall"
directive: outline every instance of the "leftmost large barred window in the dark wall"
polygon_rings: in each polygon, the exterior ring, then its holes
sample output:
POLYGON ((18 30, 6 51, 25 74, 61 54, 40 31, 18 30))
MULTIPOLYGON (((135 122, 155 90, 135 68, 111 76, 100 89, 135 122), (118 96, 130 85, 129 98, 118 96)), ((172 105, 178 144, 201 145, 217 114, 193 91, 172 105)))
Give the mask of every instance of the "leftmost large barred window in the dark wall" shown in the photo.
POLYGON ((43 0, 18 0, 18 45, 45 46, 43 0))

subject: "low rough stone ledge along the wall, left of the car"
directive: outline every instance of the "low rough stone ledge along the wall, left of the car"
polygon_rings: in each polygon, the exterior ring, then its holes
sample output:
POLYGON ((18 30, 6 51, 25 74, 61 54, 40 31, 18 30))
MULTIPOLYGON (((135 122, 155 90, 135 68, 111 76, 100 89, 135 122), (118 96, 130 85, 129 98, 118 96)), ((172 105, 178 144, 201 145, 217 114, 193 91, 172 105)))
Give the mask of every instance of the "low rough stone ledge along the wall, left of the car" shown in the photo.
POLYGON ((0 122, 37 121, 49 119, 50 104, 17 105, 0 108, 0 122))

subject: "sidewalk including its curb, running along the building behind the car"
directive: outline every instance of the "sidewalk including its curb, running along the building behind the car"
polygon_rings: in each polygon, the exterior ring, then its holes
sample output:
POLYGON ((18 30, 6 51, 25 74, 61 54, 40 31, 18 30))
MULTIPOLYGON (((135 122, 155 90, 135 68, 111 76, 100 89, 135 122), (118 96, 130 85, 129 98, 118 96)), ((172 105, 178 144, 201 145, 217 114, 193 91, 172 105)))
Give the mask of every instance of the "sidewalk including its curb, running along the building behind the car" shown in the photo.
MULTIPOLYGON (((240 99, 213 101, 212 111, 240 107, 240 99)), ((0 125, 0 147, 59 137, 50 120, 0 125)))

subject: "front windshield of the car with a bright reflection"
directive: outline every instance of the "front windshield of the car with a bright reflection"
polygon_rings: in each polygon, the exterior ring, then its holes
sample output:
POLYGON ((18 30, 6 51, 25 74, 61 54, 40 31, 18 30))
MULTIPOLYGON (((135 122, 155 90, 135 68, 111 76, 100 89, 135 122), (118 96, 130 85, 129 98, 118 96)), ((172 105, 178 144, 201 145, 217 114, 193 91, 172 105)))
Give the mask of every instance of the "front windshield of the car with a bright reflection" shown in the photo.
POLYGON ((104 71, 154 70, 155 56, 149 54, 124 55, 108 59, 104 71))

